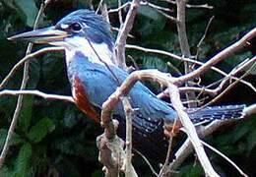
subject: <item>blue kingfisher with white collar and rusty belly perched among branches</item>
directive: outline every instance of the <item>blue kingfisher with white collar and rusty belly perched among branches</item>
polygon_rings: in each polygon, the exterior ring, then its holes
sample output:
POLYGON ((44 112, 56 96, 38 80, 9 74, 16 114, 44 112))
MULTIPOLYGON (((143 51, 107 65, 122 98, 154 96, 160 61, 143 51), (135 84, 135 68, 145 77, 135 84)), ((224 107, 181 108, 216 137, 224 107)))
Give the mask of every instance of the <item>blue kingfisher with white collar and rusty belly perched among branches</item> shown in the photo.
MULTIPOLYGON (((90 10, 77 10, 55 26, 35 29, 9 37, 65 48, 67 75, 77 107, 96 122, 102 103, 127 78, 128 73, 115 65, 114 41, 109 24, 90 10), (106 67, 107 66, 107 67, 106 67), (115 76, 115 77, 113 77, 115 76)), ((129 92, 133 108, 133 148, 156 160, 164 160, 167 141, 163 125, 177 118, 175 110, 150 89, 137 82, 129 92)), ((242 117, 245 105, 207 107, 189 116, 193 123, 205 120, 242 117)), ((125 113, 119 103, 112 116, 119 122, 117 135, 125 140, 125 113)))

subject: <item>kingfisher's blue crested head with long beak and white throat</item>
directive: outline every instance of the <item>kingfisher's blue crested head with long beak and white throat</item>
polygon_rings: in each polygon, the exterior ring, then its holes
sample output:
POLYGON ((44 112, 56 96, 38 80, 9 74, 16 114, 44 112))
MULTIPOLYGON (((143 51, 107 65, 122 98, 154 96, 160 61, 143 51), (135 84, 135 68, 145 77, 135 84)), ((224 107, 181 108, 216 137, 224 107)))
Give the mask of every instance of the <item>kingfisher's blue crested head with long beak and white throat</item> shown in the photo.
POLYGON ((8 39, 62 46, 67 56, 77 50, 92 56, 94 53, 92 45, 94 50, 105 55, 111 55, 113 52, 109 24, 101 16, 89 10, 77 10, 64 17, 55 26, 20 33, 8 39))

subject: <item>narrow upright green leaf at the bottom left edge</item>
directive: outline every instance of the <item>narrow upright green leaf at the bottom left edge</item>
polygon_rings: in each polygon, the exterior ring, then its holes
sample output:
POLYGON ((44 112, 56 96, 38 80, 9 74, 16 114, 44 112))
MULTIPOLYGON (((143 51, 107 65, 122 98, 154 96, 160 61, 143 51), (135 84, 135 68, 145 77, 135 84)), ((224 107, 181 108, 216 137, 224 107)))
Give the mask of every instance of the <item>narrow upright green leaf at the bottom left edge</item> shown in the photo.
POLYGON ((27 177, 30 171, 31 166, 31 157, 32 157, 32 146, 30 144, 25 144, 18 154, 16 161, 16 170, 14 176, 27 177))

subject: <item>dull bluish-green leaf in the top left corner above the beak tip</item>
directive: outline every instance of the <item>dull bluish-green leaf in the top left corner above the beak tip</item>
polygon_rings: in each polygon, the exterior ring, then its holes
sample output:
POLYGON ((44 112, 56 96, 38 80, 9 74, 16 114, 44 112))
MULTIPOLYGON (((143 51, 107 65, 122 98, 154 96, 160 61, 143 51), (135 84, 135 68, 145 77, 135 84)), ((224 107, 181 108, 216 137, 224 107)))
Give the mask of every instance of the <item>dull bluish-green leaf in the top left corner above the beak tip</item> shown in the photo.
POLYGON ((35 2, 33 0, 15 0, 15 3, 26 15, 26 24, 32 27, 38 11, 35 2))

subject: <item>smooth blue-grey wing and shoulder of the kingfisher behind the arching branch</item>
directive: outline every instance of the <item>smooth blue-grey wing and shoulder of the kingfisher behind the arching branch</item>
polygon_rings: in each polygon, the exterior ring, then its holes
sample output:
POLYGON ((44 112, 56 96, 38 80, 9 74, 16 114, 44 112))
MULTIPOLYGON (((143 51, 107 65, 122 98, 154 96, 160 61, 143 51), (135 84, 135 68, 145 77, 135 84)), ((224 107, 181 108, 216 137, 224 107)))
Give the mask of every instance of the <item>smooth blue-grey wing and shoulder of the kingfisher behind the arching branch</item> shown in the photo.
MULTIPOLYGON (((83 72, 78 72, 78 77, 87 89, 90 101, 99 108, 101 108, 102 103, 108 96, 119 87, 115 77, 123 82, 128 76, 123 70, 117 67, 110 67, 114 77, 104 65, 99 64, 94 64, 92 67, 87 65, 83 70, 83 72)), ((142 83, 137 82, 130 90, 129 96, 132 107, 138 108, 136 114, 142 120, 155 121, 162 119, 169 122, 174 121, 176 117, 175 111, 142 83)), ((116 106, 115 113, 124 116, 120 103, 116 106)))

